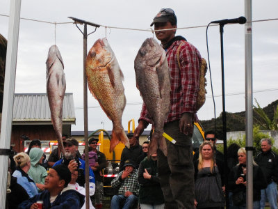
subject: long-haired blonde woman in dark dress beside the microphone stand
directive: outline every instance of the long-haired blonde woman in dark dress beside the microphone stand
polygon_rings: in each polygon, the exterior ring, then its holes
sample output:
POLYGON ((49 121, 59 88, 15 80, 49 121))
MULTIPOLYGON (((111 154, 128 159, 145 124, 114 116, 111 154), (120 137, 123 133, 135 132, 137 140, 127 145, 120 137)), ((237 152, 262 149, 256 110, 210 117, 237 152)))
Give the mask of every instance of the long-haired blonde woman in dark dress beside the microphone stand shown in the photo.
POLYGON ((196 208, 224 208, 223 162, 215 160, 213 150, 213 144, 204 141, 199 147, 199 159, 194 162, 196 208))

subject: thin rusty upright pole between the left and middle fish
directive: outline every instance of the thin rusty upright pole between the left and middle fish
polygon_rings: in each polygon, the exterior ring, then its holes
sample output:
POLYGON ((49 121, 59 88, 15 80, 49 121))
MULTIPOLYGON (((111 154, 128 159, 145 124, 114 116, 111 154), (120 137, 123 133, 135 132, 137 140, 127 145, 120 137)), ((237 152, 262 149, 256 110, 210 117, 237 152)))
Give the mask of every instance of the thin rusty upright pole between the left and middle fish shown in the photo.
POLYGON ((85 141, 85 203, 89 209, 89 159, 88 159, 88 93, 86 77, 86 58, 87 58, 87 24, 84 24, 83 33, 83 106, 84 106, 84 141, 85 141))

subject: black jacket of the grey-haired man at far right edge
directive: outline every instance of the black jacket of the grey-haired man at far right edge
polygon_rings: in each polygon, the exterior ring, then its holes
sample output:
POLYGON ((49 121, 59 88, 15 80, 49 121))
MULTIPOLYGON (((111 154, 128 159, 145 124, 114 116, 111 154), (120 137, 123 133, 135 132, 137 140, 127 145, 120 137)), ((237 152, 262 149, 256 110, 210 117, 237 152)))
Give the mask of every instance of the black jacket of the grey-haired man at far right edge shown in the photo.
POLYGON ((272 180, 278 183, 278 157, 271 149, 265 153, 259 152, 255 161, 263 170, 263 175, 268 184, 272 183, 272 180))

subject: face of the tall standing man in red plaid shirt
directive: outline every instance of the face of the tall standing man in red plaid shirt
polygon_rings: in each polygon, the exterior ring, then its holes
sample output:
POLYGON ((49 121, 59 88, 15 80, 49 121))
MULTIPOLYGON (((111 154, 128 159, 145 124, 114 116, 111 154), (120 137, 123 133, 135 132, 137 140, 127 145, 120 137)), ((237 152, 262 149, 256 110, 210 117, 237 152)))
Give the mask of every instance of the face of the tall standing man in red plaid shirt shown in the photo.
MULTIPOLYGON (((173 26, 170 22, 156 22, 154 23, 154 30, 163 30, 163 29, 173 29, 177 28, 177 26, 173 26)), ((169 42, 172 38, 174 38, 176 29, 169 31, 156 31, 156 38, 161 42, 169 42)))

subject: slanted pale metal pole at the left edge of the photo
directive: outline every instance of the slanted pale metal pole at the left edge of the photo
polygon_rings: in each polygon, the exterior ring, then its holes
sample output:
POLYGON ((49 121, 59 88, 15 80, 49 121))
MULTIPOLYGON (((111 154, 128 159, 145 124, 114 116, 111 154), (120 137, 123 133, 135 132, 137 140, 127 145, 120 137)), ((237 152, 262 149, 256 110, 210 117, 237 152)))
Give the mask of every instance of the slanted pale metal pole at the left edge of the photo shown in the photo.
MULTIPOLYGON (((0 148, 10 148, 10 134, 13 120, 13 95, 15 93, 15 71, 17 67, 17 46, 19 36, 19 20, 21 0, 10 1, 10 17, 8 28, 8 47, 6 56, 6 73, 3 92, 3 109, 1 121, 0 148)), ((6 206, 6 189, 8 173, 8 156, 0 155, 0 206, 6 206)))

